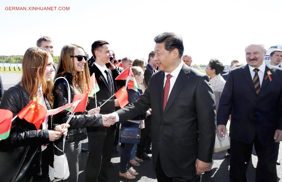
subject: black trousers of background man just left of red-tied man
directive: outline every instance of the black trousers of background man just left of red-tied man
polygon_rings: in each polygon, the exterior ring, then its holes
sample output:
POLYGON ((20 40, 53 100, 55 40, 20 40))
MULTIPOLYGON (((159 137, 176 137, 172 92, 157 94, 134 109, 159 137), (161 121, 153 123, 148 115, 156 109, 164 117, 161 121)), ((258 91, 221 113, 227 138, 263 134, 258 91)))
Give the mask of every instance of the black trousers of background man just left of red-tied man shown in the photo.
POLYGON ((151 148, 151 116, 145 120, 145 128, 141 130, 140 143, 137 145, 137 155, 145 152, 146 149, 151 148))

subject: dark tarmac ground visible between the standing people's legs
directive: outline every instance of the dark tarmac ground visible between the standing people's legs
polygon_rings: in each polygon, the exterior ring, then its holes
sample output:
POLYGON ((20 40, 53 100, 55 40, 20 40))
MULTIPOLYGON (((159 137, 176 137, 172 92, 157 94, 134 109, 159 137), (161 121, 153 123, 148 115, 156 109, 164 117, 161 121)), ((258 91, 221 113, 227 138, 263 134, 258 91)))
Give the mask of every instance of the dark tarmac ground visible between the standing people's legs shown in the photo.
MULTIPOLYGON (((87 140, 84 140, 87 142, 87 140)), ((88 148, 87 143, 82 144, 82 148, 88 148)), ((120 148, 119 148, 120 151, 120 148)), ((212 166, 212 170, 210 172, 206 172, 202 175, 202 182, 229 182, 229 165, 230 158, 225 158, 225 151, 214 153, 213 160, 214 164, 212 166)), ((80 166, 80 174, 79 174, 79 182, 85 181, 85 166, 87 161, 88 152, 82 153, 82 161, 80 166)), ((113 153, 112 162, 115 164, 114 168, 110 168, 109 172, 109 182, 157 182, 156 175, 153 170, 153 165, 151 160, 144 160, 144 162, 140 163, 139 167, 134 167, 134 169, 139 173, 134 180, 126 180, 124 178, 120 178, 118 176, 119 165, 120 165, 120 155, 121 153, 113 153)), ((152 156, 152 155, 149 155, 152 156)), ((279 147, 279 159, 282 160, 282 147, 279 147)), ((248 165, 248 181, 255 182, 255 170, 258 162, 258 158, 256 156, 256 152, 253 149, 252 160, 248 165)), ((282 178, 282 166, 277 165, 277 173, 278 179, 277 181, 282 182, 280 180, 282 178)), ((60 181, 60 180, 56 180, 60 181)))

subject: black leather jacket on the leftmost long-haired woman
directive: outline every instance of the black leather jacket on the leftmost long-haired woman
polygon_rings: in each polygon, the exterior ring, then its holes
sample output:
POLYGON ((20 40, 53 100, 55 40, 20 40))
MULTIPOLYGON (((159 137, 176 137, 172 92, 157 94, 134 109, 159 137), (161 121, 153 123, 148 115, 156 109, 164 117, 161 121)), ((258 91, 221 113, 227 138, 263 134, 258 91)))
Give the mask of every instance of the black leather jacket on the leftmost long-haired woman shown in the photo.
MULTIPOLYGON (((50 109, 46 98, 45 103, 50 109)), ((14 117, 28 104, 29 93, 18 84, 4 93, 0 108, 12 111, 14 117)), ((9 137, 0 141, 0 181, 26 181, 31 168, 38 175, 48 173, 41 170, 41 145, 49 144, 48 147, 51 147, 49 149, 53 152, 46 157, 49 165, 53 166, 54 149, 53 143, 49 141, 48 131, 54 127, 53 116, 49 116, 48 130, 36 130, 34 124, 17 117, 12 122, 9 137)))

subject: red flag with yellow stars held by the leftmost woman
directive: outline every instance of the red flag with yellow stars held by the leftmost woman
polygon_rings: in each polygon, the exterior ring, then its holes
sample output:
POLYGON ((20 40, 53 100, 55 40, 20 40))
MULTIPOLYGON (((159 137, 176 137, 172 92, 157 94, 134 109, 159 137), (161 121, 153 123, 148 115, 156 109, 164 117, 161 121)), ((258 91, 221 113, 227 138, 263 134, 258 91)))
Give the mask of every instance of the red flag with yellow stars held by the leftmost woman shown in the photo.
POLYGON ((25 108, 20 111, 17 116, 21 119, 25 119, 29 123, 33 123, 36 129, 39 130, 42 120, 45 118, 47 110, 39 103, 32 101, 25 108))

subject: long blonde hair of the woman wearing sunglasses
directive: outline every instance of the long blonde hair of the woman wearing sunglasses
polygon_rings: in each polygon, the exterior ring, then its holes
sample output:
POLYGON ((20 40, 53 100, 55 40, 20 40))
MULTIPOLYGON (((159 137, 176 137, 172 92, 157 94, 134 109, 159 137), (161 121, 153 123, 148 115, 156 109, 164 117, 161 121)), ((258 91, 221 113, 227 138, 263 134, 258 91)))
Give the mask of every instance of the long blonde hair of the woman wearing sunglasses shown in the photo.
POLYGON ((73 59, 70 58, 70 55, 74 55, 74 49, 76 47, 80 47, 81 49, 83 49, 81 46, 78 46, 76 44, 65 45, 62 48, 56 75, 61 76, 65 72, 71 73, 73 76, 72 85, 75 89, 75 92, 76 94, 81 94, 81 93, 86 93, 85 91, 86 85, 88 88, 91 88, 90 87, 90 74, 88 71, 87 61, 84 65, 84 69, 82 72, 75 71, 75 65, 73 61, 74 58, 73 59))

